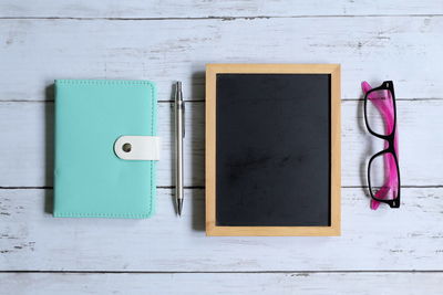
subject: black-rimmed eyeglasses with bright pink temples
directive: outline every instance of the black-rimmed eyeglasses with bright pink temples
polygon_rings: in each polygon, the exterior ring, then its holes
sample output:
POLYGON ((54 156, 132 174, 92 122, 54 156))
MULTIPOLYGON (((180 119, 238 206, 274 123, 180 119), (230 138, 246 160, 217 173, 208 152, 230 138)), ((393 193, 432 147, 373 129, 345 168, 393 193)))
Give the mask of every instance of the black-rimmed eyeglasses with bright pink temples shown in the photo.
POLYGON ((385 140, 384 149, 373 155, 368 165, 371 209, 377 210, 381 202, 399 208, 400 168, 394 85, 392 81, 385 81, 372 88, 368 82, 363 82, 361 87, 364 93, 367 128, 373 136, 385 140))

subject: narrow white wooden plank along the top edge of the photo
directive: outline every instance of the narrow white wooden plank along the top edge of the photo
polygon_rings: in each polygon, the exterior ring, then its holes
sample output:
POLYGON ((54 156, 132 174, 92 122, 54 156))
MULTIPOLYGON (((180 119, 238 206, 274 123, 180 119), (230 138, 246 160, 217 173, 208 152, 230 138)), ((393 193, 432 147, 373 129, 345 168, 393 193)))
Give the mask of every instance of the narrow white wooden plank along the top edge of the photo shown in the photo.
POLYGON ((0 17, 37 18, 208 18, 208 17, 305 17, 361 14, 436 14, 443 13, 441 1, 86 1, 7 0, 0 3, 0 17))

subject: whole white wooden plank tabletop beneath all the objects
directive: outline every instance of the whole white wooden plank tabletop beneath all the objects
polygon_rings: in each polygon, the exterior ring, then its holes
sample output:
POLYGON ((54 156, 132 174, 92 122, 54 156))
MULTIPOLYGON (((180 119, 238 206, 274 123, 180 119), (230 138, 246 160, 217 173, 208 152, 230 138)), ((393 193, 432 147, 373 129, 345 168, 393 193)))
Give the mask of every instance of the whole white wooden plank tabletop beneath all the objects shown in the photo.
POLYGON ((0 2, 0 294, 437 294, 443 282, 443 1, 0 2), (341 63, 342 235, 206 238, 205 63, 341 63), (54 78, 158 85, 151 220, 54 219, 54 78), (172 83, 187 104, 186 202, 173 203, 172 83), (360 82, 393 80, 402 206, 369 209, 382 147, 360 82))

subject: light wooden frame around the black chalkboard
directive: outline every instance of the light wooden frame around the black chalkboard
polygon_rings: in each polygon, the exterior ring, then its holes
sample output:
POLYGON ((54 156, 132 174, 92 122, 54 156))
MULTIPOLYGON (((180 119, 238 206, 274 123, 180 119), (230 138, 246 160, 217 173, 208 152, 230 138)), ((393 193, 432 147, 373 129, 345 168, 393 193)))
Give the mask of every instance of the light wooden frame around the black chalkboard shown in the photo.
MULTIPOLYGON (((237 84, 238 85, 238 84, 237 84)), ((322 84, 323 85, 323 84, 322 84)), ((248 118, 245 115, 245 118, 248 118)), ((228 120, 224 120, 225 123, 228 120)), ((340 188, 341 188, 341 143, 340 143, 340 65, 339 64, 208 64, 206 66, 206 234, 207 235, 340 235, 340 188), (328 76, 330 99, 328 107, 329 138, 329 196, 327 199, 328 223, 321 225, 226 225, 217 221, 217 76, 225 74, 293 74, 328 76)), ((276 144, 277 145, 277 144, 276 144)), ((218 200, 219 201, 219 200, 218 200)), ((226 223, 226 222, 225 222, 226 223)), ((229 223, 229 222, 228 222, 229 223)))

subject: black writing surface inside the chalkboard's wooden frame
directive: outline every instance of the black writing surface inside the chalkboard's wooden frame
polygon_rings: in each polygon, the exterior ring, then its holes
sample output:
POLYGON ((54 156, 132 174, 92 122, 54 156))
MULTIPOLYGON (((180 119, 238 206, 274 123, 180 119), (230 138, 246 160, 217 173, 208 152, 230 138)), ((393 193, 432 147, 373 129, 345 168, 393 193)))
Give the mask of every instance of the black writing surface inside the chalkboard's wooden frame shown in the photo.
POLYGON ((217 225, 330 224, 330 75, 217 74, 217 225))

